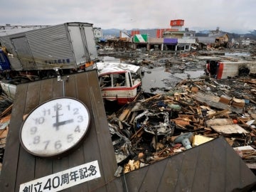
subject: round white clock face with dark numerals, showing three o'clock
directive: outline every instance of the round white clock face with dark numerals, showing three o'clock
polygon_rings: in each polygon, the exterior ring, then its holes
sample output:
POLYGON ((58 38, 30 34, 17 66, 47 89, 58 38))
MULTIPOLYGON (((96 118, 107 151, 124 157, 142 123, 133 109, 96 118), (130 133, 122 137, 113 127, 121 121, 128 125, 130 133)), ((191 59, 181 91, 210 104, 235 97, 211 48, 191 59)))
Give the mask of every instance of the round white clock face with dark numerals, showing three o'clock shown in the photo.
POLYGON ((85 136, 90 114, 82 102, 61 97, 39 105, 23 122, 21 144, 36 156, 57 156, 85 136))

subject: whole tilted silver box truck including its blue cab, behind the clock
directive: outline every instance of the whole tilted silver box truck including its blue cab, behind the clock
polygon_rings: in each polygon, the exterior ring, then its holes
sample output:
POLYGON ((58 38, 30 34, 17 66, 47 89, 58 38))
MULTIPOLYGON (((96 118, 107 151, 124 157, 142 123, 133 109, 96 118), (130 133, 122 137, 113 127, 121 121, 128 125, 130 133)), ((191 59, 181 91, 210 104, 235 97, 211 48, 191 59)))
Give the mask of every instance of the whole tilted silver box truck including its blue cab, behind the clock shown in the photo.
POLYGON ((97 50, 91 23, 63 23, 0 37, 0 69, 7 77, 46 78, 90 70, 97 50))

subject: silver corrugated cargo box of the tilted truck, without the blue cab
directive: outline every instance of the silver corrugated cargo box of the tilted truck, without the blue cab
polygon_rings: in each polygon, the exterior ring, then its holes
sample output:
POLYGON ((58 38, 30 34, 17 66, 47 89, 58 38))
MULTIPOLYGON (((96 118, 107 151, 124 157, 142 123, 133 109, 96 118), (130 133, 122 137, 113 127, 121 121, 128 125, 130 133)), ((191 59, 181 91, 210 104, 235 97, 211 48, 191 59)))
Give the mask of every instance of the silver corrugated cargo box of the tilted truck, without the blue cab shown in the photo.
POLYGON ((14 63, 10 60, 14 70, 51 70, 55 67, 76 69, 97 60, 92 30, 90 23, 63 23, 0 39, 16 57, 14 63))

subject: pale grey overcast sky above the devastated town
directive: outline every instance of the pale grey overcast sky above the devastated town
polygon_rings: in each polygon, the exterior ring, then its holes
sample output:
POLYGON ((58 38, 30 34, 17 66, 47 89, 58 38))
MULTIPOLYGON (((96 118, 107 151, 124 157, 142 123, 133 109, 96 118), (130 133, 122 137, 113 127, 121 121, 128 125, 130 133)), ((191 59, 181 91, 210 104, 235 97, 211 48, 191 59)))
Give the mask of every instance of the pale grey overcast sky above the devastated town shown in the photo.
POLYGON ((170 28, 185 20, 190 30, 217 27, 247 33, 256 29, 256 0, 8 0, 0 6, 0 25, 93 23, 102 29, 170 28))

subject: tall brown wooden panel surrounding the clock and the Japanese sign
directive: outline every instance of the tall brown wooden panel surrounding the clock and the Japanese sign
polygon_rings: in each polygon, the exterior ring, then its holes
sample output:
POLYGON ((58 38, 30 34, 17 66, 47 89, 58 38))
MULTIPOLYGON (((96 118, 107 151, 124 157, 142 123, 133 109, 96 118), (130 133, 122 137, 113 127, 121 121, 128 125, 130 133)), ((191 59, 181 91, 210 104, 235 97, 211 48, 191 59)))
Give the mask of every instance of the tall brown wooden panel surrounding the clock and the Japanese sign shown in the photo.
POLYGON ((117 161, 114 156, 105 108, 98 85, 97 71, 70 75, 68 82, 65 83, 53 78, 23 84, 20 87, 17 89, 16 96, 18 99, 14 104, 12 113, 14 118, 11 119, 10 124, 10 126, 14 126, 10 134, 14 135, 12 132, 15 133, 14 137, 9 139, 9 145, 11 144, 13 150, 6 150, 7 155, 5 154, 6 160, 4 160, 6 166, 3 167, 1 173, 1 176, 6 177, 4 180, 1 178, 0 191, 18 191, 21 183, 95 160, 99 163, 101 177, 67 188, 64 191, 122 191, 121 179, 114 177, 117 161), (63 85, 65 92, 63 92, 63 85), (74 149, 68 156, 60 159, 38 158, 28 154, 20 147, 18 131, 13 130, 20 128, 23 114, 28 114, 34 107, 46 100, 63 96, 81 100, 90 110, 90 130, 82 145, 78 149, 74 149), (11 167, 9 167, 10 164, 11 167), (18 174, 17 178, 16 174, 18 174))

